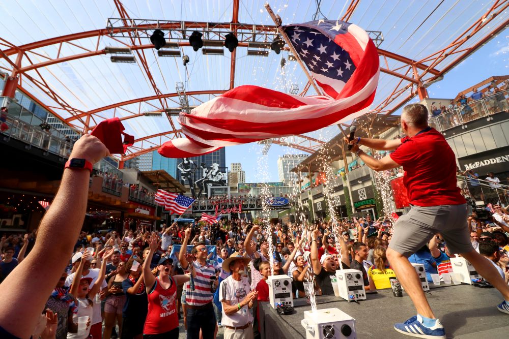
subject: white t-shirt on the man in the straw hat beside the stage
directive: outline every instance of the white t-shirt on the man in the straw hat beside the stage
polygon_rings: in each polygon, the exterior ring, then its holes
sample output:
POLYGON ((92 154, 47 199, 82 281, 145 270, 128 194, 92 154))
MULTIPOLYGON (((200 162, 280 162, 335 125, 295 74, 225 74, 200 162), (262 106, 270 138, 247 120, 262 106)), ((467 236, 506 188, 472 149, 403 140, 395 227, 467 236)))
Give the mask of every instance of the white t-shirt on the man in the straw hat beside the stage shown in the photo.
MULTIPOLYGON (((241 276, 240 281, 236 281, 233 279, 233 276, 230 275, 227 279, 223 280, 219 286, 219 300, 229 300, 230 305, 237 305, 250 291, 249 279, 241 276)), ((222 309, 221 324, 223 326, 240 327, 247 323, 251 323, 252 321, 253 317, 249 312, 248 305, 245 305, 231 315, 224 313, 224 307, 222 309)))

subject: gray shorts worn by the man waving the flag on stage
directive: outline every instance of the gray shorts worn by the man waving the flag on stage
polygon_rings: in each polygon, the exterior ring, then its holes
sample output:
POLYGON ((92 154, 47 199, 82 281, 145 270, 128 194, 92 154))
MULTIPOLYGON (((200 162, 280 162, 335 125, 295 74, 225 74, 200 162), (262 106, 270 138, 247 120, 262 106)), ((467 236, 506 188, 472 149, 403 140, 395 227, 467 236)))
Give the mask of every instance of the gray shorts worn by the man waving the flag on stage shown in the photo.
POLYGON ((410 212, 394 224, 389 248, 408 258, 440 233, 450 253, 470 252, 473 247, 467 217, 467 204, 412 206, 410 212))

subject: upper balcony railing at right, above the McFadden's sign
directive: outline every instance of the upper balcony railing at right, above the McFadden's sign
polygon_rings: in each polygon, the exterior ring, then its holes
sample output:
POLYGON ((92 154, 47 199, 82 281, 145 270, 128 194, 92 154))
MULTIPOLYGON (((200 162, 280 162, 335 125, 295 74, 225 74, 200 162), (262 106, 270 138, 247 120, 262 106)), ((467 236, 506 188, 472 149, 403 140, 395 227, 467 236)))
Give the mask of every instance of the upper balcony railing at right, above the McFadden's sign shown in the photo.
POLYGON ((477 120, 490 115, 509 110, 507 99, 509 90, 501 91, 489 97, 469 102, 461 107, 451 109, 430 119, 430 126, 438 131, 465 125, 469 121, 477 120))

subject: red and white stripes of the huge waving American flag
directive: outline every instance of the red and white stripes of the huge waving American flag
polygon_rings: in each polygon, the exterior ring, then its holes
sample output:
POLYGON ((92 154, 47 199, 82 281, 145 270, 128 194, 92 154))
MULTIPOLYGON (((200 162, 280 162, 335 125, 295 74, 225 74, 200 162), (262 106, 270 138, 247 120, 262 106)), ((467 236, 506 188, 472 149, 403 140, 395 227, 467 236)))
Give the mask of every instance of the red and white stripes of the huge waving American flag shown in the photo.
POLYGON ((380 74, 378 51, 367 33, 350 25, 331 43, 345 49, 355 65, 347 83, 315 74, 326 96, 299 97, 253 85, 233 88, 179 117, 187 138, 167 141, 159 153, 188 158, 224 146, 305 134, 364 114, 375 98, 380 74))

